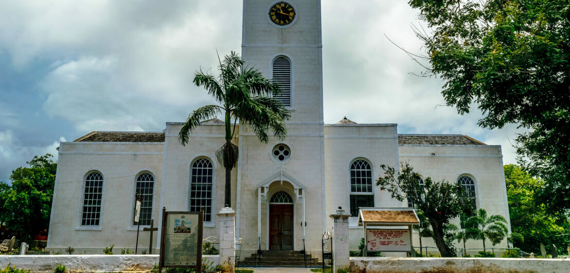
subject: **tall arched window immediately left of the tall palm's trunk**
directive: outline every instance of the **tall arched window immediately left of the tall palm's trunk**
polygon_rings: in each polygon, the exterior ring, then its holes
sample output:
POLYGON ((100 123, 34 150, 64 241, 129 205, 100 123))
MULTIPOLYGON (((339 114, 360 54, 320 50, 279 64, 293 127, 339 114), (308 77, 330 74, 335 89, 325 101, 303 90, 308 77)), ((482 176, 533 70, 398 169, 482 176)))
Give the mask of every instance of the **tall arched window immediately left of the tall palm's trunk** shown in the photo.
POLYGON ((206 158, 198 158, 192 164, 190 177, 190 211, 199 212, 202 206, 206 212, 205 222, 211 221, 212 187, 214 166, 206 158))

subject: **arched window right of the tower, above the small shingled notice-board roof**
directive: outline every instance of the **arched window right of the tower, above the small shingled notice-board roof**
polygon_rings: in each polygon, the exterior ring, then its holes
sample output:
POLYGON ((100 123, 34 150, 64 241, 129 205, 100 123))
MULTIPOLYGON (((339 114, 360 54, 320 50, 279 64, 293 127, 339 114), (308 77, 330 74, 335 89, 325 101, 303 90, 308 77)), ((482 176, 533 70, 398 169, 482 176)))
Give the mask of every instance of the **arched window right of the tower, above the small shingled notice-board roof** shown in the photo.
POLYGON ((359 208, 374 206, 372 191, 372 168, 363 159, 351 164, 351 216, 358 216, 359 208))

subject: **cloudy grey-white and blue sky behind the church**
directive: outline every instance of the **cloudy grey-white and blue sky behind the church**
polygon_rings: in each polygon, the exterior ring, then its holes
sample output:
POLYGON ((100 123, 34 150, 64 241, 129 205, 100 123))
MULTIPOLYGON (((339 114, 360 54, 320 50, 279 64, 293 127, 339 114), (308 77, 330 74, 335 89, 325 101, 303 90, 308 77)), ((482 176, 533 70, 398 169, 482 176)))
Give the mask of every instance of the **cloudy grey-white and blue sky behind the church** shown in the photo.
MULTIPOLYGON (((324 121, 398 123, 400 133, 466 134, 515 163, 516 127, 443 106, 407 1, 323 0, 324 121), (339 14, 339 10, 343 13, 339 14)), ((161 131, 213 100, 194 72, 241 51, 242 1, 0 0, 0 181, 34 155, 95 130, 161 131)))

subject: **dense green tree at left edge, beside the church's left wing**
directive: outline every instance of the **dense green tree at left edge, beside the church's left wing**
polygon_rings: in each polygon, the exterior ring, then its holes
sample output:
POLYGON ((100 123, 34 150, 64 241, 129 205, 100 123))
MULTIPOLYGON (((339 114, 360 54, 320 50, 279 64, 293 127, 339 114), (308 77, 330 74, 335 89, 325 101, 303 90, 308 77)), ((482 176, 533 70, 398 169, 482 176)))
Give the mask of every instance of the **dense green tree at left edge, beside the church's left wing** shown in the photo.
POLYGON ((0 182, 0 221, 10 230, 19 231, 23 241, 36 234, 46 234, 50 224, 57 163, 52 155, 34 156, 29 167, 12 171, 11 185, 0 182))

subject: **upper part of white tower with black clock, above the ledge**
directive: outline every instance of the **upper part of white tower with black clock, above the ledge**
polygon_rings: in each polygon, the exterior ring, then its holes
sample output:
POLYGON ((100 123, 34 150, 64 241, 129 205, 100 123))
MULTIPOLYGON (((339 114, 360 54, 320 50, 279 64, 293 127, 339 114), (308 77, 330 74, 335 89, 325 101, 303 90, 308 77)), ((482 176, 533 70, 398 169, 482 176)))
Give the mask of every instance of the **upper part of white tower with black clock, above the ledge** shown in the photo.
POLYGON ((242 57, 279 81, 288 123, 323 123, 320 1, 243 1, 242 57))

